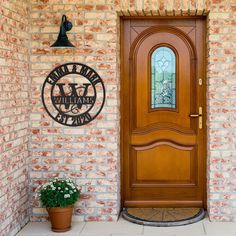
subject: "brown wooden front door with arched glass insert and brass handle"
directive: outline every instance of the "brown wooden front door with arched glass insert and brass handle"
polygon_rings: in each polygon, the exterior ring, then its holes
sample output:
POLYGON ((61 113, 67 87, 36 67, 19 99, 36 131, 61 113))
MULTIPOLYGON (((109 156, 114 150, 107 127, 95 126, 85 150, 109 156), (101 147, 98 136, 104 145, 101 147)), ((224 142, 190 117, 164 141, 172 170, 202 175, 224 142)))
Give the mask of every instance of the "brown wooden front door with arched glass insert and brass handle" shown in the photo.
POLYGON ((124 207, 203 207, 204 19, 124 19, 124 207))

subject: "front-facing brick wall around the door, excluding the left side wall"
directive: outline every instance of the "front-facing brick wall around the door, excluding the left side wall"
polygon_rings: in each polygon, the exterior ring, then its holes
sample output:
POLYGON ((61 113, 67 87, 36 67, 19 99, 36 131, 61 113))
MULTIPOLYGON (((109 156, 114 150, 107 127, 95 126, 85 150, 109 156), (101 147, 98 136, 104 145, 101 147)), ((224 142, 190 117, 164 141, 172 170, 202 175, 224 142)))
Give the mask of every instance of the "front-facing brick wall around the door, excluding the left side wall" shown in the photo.
MULTIPOLYGON (((60 172, 77 179, 79 220, 114 220, 119 211, 119 16, 208 15, 208 207, 210 218, 236 221, 234 138, 235 0, 32 0, 31 1, 32 188, 60 172), (52 49, 62 14, 73 22, 75 49, 52 49), (58 64, 85 63, 101 75, 105 107, 92 123, 61 126, 42 107, 40 91, 58 64)), ((32 220, 44 218, 33 198, 32 220)))

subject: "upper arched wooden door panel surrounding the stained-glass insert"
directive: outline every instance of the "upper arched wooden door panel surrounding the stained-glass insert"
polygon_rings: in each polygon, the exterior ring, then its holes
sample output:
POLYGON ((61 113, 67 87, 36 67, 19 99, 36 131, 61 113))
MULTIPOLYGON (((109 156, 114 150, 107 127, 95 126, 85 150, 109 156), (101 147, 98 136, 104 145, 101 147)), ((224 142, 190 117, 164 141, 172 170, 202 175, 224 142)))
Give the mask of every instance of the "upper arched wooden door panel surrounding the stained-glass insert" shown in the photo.
MULTIPOLYGON (((191 121, 188 119, 188 115, 191 112, 191 108, 195 109, 194 106, 191 107, 191 96, 190 93, 193 92, 194 87, 191 86, 195 81, 190 81, 194 71, 191 71, 191 61, 194 60, 193 51, 188 48, 188 45, 177 36, 176 30, 173 28, 153 28, 153 34, 148 36, 148 38, 140 37, 140 41, 136 42, 138 46, 131 53, 133 58, 133 64, 142 65, 137 66, 134 69, 134 85, 136 90, 136 99, 134 100, 133 106, 136 107, 134 117, 136 120, 136 125, 133 128, 140 128, 148 126, 154 123, 172 123, 179 125, 180 127, 189 128, 191 126, 191 121), (165 33, 163 31, 170 30, 171 33, 165 33), (163 43, 165 42, 165 43, 163 43), (176 51, 177 65, 176 65, 176 100, 177 108, 176 110, 160 109, 159 112, 152 112, 150 110, 150 83, 147 83, 145 76, 148 81, 150 81, 150 53, 154 48, 161 45, 171 45, 176 51), (137 55, 136 55, 137 54, 137 55), (179 58, 186 58, 186 60, 180 60, 179 58), (192 74, 191 74, 192 73, 192 74), (179 77, 181 80, 179 80, 179 77), (181 96, 180 96, 181 94, 181 96), (147 104, 148 102, 148 104, 147 104), (180 106, 179 104, 184 104, 180 106), (170 115, 171 113, 171 115, 170 115)), ((138 41, 138 40, 137 40, 138 41)))

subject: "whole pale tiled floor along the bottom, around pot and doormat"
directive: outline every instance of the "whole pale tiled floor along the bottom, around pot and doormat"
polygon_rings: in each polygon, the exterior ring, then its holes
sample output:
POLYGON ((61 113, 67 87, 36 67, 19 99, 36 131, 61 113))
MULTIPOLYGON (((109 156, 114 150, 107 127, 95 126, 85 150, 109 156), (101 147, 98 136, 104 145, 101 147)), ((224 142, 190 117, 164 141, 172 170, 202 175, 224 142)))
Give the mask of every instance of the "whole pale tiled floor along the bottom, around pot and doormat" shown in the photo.
POLYGON ((29 223, 17 236, 236 236, 236 223, 209 222, 178 227, 142 226, 119 219, 118 222, 74 222, 66 233, 53 233, 49 223, 29 223))

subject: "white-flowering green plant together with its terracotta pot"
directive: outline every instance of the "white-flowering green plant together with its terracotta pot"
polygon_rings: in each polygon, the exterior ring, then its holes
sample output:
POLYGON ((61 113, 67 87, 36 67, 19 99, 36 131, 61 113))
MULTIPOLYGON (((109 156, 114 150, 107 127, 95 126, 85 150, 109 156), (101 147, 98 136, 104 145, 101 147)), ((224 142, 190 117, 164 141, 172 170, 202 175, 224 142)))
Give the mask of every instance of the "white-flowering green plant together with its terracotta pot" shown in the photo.
POLYGON ((39 198, 48 211, 52 231, 70 230, 74 203, 79 197, 80 189, 70 179, 55 178, 41 186, 39 198))

